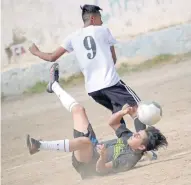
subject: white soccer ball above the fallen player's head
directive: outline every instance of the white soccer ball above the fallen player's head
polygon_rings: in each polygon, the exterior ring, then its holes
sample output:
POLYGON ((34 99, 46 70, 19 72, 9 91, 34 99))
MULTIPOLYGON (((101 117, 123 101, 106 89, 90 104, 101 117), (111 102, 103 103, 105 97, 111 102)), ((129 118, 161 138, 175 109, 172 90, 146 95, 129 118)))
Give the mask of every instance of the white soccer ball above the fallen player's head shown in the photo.
POLYGON ((137 117, 145 125, 155 125, 162 118, 162 108, 154 101, 150 103, 140 103, 137 109, 137 117))

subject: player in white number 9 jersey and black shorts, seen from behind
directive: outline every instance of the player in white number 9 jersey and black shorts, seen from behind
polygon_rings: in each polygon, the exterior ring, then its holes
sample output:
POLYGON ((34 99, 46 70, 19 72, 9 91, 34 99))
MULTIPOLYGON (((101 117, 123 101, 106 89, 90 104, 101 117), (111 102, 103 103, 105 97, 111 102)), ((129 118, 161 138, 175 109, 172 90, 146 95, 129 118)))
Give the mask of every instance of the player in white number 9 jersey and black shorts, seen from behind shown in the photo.
MULTIPOLYGON (((141 100, 116 72, 116 40, 110 30, 102 26, 102 9, 95 5, 84 5, 81 9, 84 26, 70 34, 60 47, 51 53, 44 53, 33 44, 30 52, 43 60, 55 62, 64 53, 74 51, 89 96, 112 113, 128 104, 133 108, 129 114, 134 119, 136 131, 144 130, 146 125, 136 117, 141 100)), ((125 124, 123 118, 120 122, 125 124)), ((152 158, 157 158, 157 155, 153 153, 152 158)))

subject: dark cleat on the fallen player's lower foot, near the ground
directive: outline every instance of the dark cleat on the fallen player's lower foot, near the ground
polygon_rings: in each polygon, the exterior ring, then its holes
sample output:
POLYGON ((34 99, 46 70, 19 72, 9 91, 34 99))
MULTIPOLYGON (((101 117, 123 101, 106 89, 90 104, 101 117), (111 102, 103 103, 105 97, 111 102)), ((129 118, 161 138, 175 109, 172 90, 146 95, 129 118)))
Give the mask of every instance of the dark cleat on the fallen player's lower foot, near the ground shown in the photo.
POLYGON ((27 147, 31 155, 39 152, 40 142, 36 139, 30 138, 30 135, 27 135, 27 147))

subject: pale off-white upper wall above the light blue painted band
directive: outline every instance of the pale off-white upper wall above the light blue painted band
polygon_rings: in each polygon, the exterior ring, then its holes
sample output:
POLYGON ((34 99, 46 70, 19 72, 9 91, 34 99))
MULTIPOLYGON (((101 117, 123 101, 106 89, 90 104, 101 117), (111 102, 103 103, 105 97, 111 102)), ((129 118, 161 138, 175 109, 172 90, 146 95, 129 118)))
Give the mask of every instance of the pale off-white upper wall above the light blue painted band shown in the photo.
POLYGON ((27 52, 30 42, 55 49, 82 26, 79 6, 85 3, 103 8, 104 23, 119 40, 191 20, 190 0, 2 0, 2 70, 39 63, 27 52), (10 59, 5 48, 14 48, 10 59))

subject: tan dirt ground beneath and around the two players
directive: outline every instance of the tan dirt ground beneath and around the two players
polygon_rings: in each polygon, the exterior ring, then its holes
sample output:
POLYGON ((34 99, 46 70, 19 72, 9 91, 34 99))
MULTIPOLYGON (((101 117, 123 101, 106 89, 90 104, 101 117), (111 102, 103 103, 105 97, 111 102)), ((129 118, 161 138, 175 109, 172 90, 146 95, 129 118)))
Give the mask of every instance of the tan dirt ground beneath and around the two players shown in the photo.
MULTIPOLYGON (((169 147, 158 152, 158 160, 139 162, 128 172, 82 181, 71 165, 71 154, 43 151, 30 156, 25 144, 27 133, 45 140, 72 138, 71 115, 54 94, 44 93, 2 102, 2 184, 191 184, 191 61, 122 79, 143 100, 155 100, 163 106, 163 119, 156 127, 167 136, 169 147)), ((107 125, 111 113, 90 99, 83 85, 68 92, 85 106, 101 140, 114 137, 107 125)), ((128 116, 125 119, 134 130, 132 120, 128 116)))

